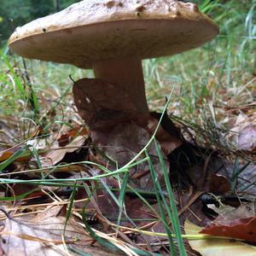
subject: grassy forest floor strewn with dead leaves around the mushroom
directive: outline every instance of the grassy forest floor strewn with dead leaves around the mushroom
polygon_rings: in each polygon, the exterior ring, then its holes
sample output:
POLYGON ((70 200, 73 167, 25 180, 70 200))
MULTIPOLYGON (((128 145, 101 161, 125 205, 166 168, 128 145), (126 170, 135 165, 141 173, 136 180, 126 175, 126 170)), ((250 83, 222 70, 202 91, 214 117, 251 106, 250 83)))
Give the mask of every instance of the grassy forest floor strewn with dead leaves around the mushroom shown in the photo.
POLYGON ((151 149, 113 172, 91 143, 72 94, 73 80, 91 78, 91 71, 22 60, 3 47, 0 253, 212 255, 225 247, 256 255, 256 2, 203 3, 220 27, 217 38, 143 61, 150 110, 166 108, 189 145, 166 158, 148 138, 165 189, 155 181, 152 190, 138 191, 128 182, 127 173, 143 162, 156 180, 151 149), (199 234, 207 224, 209 236, 199 234))

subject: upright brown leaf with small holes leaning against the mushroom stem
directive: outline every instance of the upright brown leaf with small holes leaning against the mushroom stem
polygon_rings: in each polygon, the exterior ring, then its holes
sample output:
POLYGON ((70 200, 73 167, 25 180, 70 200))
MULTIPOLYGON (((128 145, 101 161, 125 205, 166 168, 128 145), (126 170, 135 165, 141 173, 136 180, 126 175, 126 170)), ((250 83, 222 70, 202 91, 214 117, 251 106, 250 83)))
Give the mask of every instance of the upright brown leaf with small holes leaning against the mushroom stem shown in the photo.
POLYGON ((73 96, 79 115, 91 130, 108 131, 137 114, 130 96, 102 79, 79 79, 73 84, 73 96))

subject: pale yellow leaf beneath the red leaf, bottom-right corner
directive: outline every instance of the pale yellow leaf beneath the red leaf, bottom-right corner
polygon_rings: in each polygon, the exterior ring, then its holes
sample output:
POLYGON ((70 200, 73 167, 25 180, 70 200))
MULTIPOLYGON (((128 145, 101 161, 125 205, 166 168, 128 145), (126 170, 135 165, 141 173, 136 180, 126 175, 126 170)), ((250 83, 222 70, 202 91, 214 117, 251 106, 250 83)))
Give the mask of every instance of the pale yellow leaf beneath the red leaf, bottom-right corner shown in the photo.
MULTIPOLYGON (((201 227, 196 226, 186 220, 184 223, 186 235, 200 234, 201 227)), ((247 245, 241 241, 234 241, 221 238, 199 238, 198 240, 188 240, 190 247, 202 256, 230 256, 230 255, 256 255, 256 247, 247 245)))

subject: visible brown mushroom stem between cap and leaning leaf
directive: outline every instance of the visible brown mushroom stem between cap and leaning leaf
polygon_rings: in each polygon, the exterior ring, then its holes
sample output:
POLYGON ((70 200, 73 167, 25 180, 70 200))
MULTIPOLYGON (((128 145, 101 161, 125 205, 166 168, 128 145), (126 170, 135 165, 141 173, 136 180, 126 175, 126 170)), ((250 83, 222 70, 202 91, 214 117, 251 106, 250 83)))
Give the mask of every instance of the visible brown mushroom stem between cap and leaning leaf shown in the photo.
POLYGON ((93 65, 96 79, 116 84, 131 97, 138 113, 148 113, 143 66, 140 58, 98 61, 93 65))

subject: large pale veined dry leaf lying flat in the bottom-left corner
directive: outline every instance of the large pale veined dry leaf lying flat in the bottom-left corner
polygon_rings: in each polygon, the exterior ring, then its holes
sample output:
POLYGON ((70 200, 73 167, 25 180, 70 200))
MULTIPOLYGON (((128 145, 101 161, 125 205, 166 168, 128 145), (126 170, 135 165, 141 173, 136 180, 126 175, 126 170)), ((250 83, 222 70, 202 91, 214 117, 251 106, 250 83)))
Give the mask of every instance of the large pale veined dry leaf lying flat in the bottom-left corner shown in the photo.
MULTIPOLYGON (((54 211, 55 214, 55 211, 54 211)), ((7 219, 0 233, 0 242, 6 255, 71 255, 63 243, 79 248, 91 255, 116 255, 94 243, 73 218, 68 220, 64 234, 65 217, 52 217, 26 220, 24 218, 7 219)), ((41 214, 43 217, 43 214, 41 214)), ((47 216, 47 217, 46 217, 47 216)))

